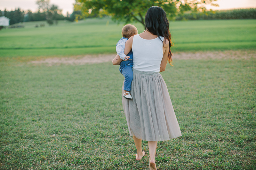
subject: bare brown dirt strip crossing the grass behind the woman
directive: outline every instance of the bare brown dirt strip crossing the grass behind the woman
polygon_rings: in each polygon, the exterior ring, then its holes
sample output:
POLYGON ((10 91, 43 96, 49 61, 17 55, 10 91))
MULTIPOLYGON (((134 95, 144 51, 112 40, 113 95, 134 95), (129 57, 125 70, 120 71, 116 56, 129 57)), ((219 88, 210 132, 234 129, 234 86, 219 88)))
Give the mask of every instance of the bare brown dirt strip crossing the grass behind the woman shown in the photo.
MULTIPOLYGON (((83 65, 87 63, 111 62, 116 54, 84 55, 70 57, 46 58, 44 60, 31 61, 32 64, 46 64, 49 66, 59 64, 83 65)), ((226 50, 226 51, 200 51, 173 53, 173 60, 188 59, 249 59, 256 58, 256 50, 226 50)))

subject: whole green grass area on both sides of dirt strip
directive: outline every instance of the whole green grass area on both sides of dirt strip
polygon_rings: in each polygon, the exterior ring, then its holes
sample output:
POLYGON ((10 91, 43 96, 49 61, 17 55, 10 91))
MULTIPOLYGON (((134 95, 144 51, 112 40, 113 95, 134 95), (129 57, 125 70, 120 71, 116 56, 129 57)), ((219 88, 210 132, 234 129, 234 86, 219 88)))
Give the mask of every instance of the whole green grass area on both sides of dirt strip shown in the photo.
MULTIPOLYGON (((34 28, 40 22, 24 23, 24 29, 0 32, 1 170, 149 168, 147 142, 145 157, 135 161, 118 66, 28 63, 115 53, 123 25, 106 26, 107 21, 63 21, 44 28, 34 28)), ((253 53, 255 26, 255 20, 171 22, 173 51, 253 53)), ((158 170, 256 169, 256 59, 230 57, 174 59, 161 73, 182 136, 158 142, 158 170)))

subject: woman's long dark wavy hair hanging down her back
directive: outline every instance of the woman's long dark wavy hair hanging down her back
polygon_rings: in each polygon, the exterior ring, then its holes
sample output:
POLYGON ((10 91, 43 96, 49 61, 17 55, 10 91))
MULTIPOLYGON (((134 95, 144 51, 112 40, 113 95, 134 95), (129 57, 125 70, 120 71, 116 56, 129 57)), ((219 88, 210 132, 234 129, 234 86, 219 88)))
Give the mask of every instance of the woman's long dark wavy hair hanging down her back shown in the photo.
MULTIPOLYGON (((171 33, 169 30, 169 21, 166 17, 166 12, 163 10, 163 8, 159 6, 152 6, 148 8, 148 11, 145 16, 145 25, 147 27, 147 30, 152 34, 157 35, 160 40, 161 38, 159 36, 162 36, 169 41, 168 61, 171 64, 172 63, 171 47, 173 45, 171 41, 171 33)), ((163 42, 163 46, 164 46, 164 42, 163 42)))

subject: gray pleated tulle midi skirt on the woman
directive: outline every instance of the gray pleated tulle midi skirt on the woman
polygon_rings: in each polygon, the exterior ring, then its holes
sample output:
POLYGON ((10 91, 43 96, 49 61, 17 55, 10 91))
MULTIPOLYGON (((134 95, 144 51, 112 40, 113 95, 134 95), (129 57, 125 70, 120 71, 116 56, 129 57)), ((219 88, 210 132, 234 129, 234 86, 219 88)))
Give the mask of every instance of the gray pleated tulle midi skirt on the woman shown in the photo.
POLYGON ((181 136, 162 75, 159 72, 132 70, 132 100, 122 96, 130 135, 146 141, 165 141, 181 136))

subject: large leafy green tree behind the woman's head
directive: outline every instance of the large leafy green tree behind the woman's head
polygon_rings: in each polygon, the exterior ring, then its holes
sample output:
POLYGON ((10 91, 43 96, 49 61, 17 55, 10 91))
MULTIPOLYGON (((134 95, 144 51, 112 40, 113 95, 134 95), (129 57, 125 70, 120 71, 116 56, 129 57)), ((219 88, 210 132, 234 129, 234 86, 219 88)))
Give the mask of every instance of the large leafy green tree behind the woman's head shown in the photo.
POLYGON ((213 4, 217 0, 76 0, 74 11, 81 11, 77 18, 86 18, 91 15, 109 15, 113 20, 125 23, 137 21, 145 26, 144 16, 151 6, 162 7, 168 18, 174 18, 182 9, 202 8, 204 4, 213 4))

